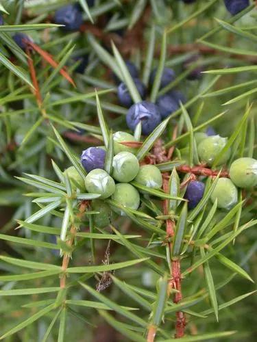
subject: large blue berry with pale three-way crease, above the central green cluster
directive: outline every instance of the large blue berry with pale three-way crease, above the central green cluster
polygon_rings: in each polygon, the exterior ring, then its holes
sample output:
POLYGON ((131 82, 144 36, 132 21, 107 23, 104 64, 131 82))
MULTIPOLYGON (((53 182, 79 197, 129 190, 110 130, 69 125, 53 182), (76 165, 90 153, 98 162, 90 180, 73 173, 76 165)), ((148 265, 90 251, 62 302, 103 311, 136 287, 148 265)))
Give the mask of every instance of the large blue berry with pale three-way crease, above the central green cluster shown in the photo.
POLYGON ((142 123, 142 133, 148 135, 160 124, 160 111, 154 103, 142 101, 130 107, 127 111, 127 126, 134 131, 139 121, 142 123))

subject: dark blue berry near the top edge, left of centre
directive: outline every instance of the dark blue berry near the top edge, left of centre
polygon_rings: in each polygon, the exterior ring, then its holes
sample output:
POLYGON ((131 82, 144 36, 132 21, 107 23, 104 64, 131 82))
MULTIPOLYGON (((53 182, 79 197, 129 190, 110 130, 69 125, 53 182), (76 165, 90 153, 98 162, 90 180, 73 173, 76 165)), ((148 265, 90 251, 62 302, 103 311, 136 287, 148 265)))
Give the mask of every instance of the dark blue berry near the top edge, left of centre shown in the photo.
POLYGON ((82 12, 76 5, 66 5, 54 14, 54 22, 62 27, 64 31, 78 31, 83 23, 82 12))

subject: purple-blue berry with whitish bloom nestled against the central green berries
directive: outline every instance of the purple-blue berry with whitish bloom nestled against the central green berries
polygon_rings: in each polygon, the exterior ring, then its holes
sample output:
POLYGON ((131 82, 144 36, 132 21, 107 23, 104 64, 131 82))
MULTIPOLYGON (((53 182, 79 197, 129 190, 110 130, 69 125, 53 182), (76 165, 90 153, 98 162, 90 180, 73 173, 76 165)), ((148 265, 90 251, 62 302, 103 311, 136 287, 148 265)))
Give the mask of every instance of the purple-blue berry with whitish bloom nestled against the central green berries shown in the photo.
POLYGON ((100 147, 89 147, 82 152, 81 162, 86 172, 95 169, 104 169, 106 151, 100 147))

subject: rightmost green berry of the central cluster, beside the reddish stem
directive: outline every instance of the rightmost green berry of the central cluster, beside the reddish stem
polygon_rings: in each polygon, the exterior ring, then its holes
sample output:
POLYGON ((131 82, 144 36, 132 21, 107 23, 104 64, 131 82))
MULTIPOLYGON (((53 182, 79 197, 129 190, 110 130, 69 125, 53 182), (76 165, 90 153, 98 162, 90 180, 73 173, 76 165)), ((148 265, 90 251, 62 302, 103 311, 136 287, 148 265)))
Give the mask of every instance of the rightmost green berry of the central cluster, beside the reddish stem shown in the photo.
POLYGON ((140 166, 139 172, 134 180, 141 185, 145 185, 145 187, 151 187, 153 189, 160 189, 162 187, 162 174, 154 165, 140 166))

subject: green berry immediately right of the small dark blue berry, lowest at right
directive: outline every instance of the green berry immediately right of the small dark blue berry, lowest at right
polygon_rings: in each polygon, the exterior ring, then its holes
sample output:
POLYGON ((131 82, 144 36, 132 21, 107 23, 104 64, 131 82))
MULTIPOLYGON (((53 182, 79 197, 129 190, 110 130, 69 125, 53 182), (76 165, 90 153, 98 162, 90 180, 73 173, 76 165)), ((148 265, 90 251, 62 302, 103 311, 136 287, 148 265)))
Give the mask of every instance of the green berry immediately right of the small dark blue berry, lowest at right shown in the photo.
POLYGON ((217 198, 217 206, 221 209, 229 210, 237 202, 237 189, 228 178, 220 178, 213 190, 210 199, 212 203, 217 198))

